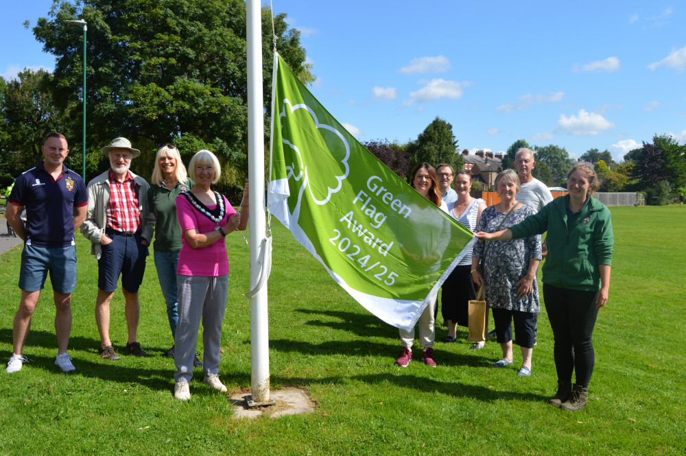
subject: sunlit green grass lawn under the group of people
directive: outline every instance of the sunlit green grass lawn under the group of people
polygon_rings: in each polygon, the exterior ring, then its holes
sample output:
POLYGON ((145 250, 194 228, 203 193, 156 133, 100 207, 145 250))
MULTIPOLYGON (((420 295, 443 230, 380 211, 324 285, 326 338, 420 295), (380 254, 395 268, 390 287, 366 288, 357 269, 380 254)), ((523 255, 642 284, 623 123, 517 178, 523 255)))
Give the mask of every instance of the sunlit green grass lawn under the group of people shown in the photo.
MULTIPOLYGON (((615 255, 608 305, 595 328, 589 406, 547 404, 556 389, 552 332, 539 320, 533 376, 493 369, 493 341, 469 350, 437 342, 435 369, 393 365, 398 331, 355 303, 276 219, 269 281, 271 387, 307 389, 316 413, 235 420, 227 398, 202 385, 172 396, 174 363, 152 256, 141 287, 139 341, 151 357, 123 355, 123 297, 115 293, 110 336, 120 361, 97 354, 97 264, 78 234, 79 283, 69 351, 56 355, 48 283, 24 354, 34 363, 0 372, 0 455, 683 455, 686 368, 686 208, 612 208, 615 255)), ((230 391, 250 387, 248 248, 228 238, 231 274, 220 374, 230 391)), ((0 256, 0 360, 12 352, 21 246, 0 256)), ((438 317, 440 320, 440 316, 438 317)), ((439 327, 436 339, 446 335, 439 327)), ((200 347, 202 350, 202 347, 200 347)), ((418 354, 417 348, 415 352, 418 354)))

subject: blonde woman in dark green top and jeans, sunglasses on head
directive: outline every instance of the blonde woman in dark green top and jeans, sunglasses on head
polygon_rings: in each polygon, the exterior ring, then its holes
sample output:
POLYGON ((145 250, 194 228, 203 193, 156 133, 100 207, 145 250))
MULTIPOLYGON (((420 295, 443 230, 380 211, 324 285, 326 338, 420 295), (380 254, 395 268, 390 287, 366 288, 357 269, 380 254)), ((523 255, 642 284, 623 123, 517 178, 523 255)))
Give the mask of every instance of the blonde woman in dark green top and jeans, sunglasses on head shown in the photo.
MULTIPOLYGON (((176 289, 176 265, 181 250, 181 226, 176 217, 176 197, 191 188, 186 167, 174 144, 163 144, 157 151, 152 184, 147 191, 150 210, 155 215, 154 250, 155 267, 160 280, 162 294, 167 304, 167 318, 171 337, 176 339, 178 322, 178 293, 176 289)), ((174 345, 163 353, 163 357, 174 357, 174 345)), ((202 366, 196 356, 193 365, 202 366)))

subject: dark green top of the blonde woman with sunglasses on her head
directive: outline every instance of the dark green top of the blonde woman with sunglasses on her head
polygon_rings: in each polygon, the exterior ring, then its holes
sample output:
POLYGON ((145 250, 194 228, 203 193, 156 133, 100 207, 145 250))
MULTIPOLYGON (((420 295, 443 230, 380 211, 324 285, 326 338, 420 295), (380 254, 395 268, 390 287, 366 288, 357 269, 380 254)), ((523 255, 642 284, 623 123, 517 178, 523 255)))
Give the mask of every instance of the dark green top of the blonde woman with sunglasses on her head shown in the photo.
POLYGON ((176 215, 176 197, 191 186, 178 182, 169 190, 163 185, 151 184, 147 191, 147 203, 155 215, 155 240, 152 248, 159 252, 181 250, 181 226, 176 215))

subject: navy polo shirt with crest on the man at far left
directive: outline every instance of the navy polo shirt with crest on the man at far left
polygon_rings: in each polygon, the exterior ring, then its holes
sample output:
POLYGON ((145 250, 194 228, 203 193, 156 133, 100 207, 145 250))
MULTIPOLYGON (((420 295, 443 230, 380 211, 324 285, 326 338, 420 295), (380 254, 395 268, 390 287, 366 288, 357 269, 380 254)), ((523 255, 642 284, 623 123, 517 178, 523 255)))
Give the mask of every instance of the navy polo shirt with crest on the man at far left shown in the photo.
POLYGON ((62 165, 54 180, 40 162, 16 178, 8 202, 26 208, 25 238, 37 247, 67 247, 74 240, 74 208, 86 206, 83 179, 62 165))

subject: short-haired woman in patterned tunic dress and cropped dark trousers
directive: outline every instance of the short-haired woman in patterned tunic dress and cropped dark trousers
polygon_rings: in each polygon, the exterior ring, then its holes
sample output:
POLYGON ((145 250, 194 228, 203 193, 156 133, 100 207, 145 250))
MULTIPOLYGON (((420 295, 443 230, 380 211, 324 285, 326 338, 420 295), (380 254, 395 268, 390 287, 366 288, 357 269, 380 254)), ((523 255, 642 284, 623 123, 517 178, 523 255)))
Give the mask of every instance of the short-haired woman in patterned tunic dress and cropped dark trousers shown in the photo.
MULTIPOLYGON (((500 202, 484 210, 477 232, 504 230, 534 214, 532 208, 515 199, 521 184, 517 173, 512 169, 498 174, 495 189, 500 202)), ((514 332, 517 333, 517 344, 522 356, 522 365, 517 372, 519 376, 531 375, 531 357, 536 335, 534 313, 540 309, 539 287, 536 283, 536 270, 540 261, 541 235, 510 241, 479 242, 473 250, 472 276, 477 285, 486 283, 486 302, 493 309, 495 334, 503 349, 503 357, 492 366, 504 368, 513 363, 514 320, 514 332), (484 252, 486 256, 482 276, 476 269, 484 252)))

